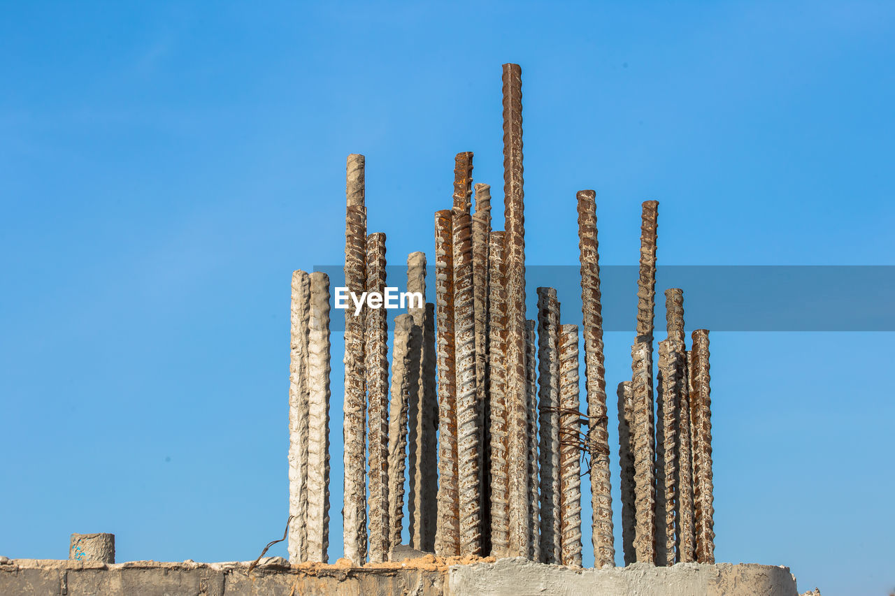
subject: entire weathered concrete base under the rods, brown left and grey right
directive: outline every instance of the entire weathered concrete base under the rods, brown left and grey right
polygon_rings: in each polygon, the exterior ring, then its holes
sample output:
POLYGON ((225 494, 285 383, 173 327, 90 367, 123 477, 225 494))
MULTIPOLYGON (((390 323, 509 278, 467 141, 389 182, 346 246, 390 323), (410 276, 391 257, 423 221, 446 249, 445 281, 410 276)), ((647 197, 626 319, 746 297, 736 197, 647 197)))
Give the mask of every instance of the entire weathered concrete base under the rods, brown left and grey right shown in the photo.
MULTIPOLYGON (((345 563, 345 560, 341 559, 340 562, 345 563)), ((656 567, 635 563, 626 567, 594 570, 543 565, 523 558, 448 567, 450 562, 451 559, 446 562, 429 555, 403 563, 362 567, 347 563, 290 567, 283 558, 265 558, 248 575, 249 564, 235 562, 133 561, 106 565, 13 559, 0 564, 0 593, 48 596, 798 594, 795 578, 783 566, 678 563, 675 566, 656 567)))

